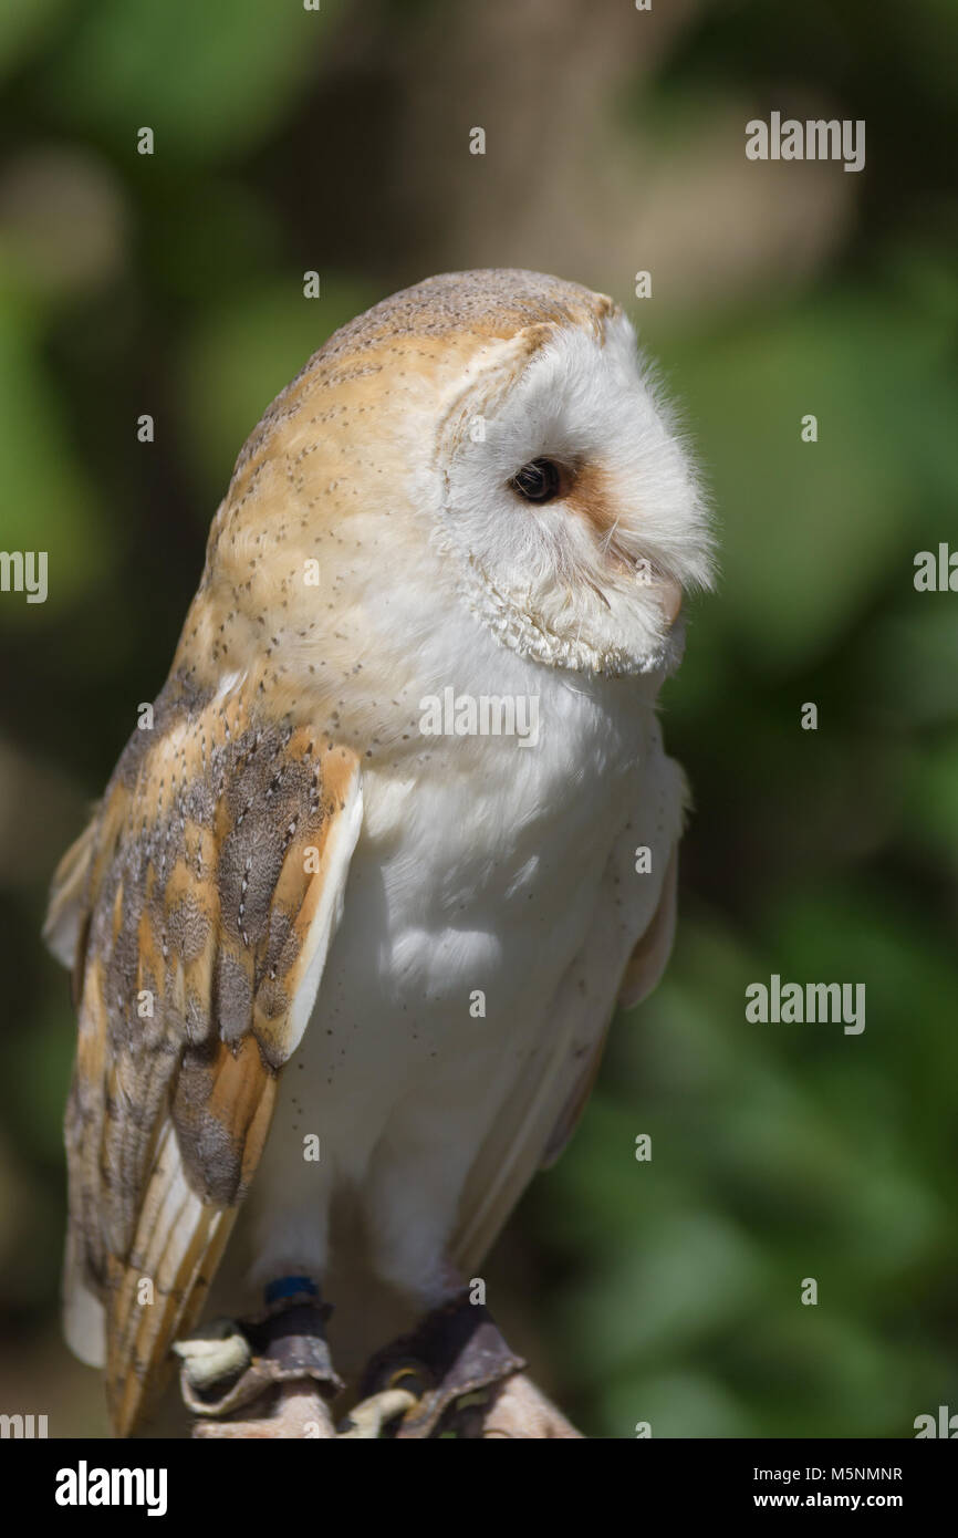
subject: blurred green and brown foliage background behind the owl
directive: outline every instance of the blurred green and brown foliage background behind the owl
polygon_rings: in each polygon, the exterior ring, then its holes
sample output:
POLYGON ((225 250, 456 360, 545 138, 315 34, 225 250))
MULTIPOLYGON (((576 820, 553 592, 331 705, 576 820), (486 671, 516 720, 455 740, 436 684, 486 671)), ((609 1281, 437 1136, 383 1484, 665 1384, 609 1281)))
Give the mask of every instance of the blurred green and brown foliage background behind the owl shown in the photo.
POLYGON ((45 604, 0 595, 0 1410, 105 1427, 55 1318, 51 869, 263 408, 358 309, 472 266, 629 308, 723 531, 663 711, 697 798, 674 963, 492 1306, 597 1436, 958 1410, 958 595, 912 584, 958 548, 956 54, 953 0, 0 6, 0 544, 49 552, 45 604), (864 172, 749 163, 772 109, 866 118, 864 172), (864 1034, 747 1024, 770 972, 864 981, 864 1034))

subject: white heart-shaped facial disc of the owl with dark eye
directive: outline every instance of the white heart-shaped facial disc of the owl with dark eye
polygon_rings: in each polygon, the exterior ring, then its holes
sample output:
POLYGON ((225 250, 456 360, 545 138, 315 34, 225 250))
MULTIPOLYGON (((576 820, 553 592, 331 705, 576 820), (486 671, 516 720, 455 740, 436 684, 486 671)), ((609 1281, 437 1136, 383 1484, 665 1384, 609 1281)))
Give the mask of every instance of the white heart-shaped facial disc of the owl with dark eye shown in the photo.
POLYGON ((683 591, 712 580, 709 515, 627 317, 534 272, 414 292, 429 291, 460 309, 483 295, 501 332, 477 348, 437 434, 435 538, 466 601, 541 663, 675 666, 683 591))

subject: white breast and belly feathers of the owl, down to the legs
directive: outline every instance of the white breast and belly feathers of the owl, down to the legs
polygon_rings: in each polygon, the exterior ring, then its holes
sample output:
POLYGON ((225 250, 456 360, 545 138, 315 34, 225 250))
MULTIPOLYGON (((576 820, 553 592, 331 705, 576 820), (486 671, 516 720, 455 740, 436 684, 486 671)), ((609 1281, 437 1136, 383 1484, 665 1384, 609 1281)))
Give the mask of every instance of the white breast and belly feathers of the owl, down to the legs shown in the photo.
POLYGON ((331 1295, 332 1270, 340 1312, 366 1307, 371 1277, 437 1301, 469 1218, 463 1187, 509 1095, 532 1070, 538 1163, 574 1087, 570 1054, 601 1035, 655 912, 681 789, 654 691, 586 686, 494 643, 464 654, 457 692, 540 694, 538 746, 432 737, 407 778, 366 771, 343 918, 231 1241, 221 1312, 249 1306, 244 1253, 248 1289, 306 1273, 331 1295), (635 872, 640 844, 650 875, 635 872))

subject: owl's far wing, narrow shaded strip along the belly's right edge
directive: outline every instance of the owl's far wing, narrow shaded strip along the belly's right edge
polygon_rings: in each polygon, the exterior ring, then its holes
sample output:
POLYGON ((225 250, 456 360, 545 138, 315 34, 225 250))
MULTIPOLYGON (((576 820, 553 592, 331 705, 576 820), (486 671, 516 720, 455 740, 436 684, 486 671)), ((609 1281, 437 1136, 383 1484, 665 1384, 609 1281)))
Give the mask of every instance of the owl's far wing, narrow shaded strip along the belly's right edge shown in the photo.
POLYGON ((664 843, 664 869, 652 918, 623 946, 617 891, 623 866, 614 857, 586 941, 554 1000, 547 1043, 534 1054, 469 1172, 460 1203, 452 1261, 471 1277, 535 1175, 552 1164, 575 1132, 592 1094, 609 1024, 618 1004, 630 1009, 660 981, 675 935, 678 831, 684 778, 675 769, 675 834, 664 843))

